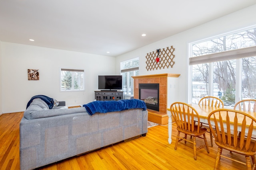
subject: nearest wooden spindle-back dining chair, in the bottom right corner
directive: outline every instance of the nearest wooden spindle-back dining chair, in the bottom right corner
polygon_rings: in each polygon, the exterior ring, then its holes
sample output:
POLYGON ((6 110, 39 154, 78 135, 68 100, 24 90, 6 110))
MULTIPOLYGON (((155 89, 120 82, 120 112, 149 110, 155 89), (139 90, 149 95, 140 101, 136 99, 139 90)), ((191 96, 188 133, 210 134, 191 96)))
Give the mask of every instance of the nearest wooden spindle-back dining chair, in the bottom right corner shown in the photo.
POLYGON ((217 109, 208 115, 208 123, 214 135, 215 144, 218 146, 214 170, 218 167, 220 157, 244 164, 247 170, 255 169, 256 141, 252 139, 252 131, 256 126, 254 117, 239 110, 217 109), (240 136, 238 135, 239 131, 241 132, 240 136), (242 162, 222 155, 223 149, 244 155, 246 161, 242 162))

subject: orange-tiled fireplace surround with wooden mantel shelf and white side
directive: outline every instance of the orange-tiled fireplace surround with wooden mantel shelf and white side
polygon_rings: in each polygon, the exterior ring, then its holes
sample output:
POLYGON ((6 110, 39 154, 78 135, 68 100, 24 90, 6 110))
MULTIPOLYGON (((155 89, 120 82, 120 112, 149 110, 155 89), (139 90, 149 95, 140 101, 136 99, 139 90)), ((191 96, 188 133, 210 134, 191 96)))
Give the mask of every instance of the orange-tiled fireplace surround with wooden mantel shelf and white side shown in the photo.
MULTIPOLYGON (((140 83, 159 83, 159 113, 160 117, 166 117, 166 121, 168 122, 167 116, 167 108, 169 107, 170 103, 173 102, 175 99, 176 93, 178 92, 178 77, 180 74, 152 74, 152 75, 142 75, 142 76, 132 76, 134 79, 134 98, 139 99, 139 84, 140 83)), ((152 114, 156 113, 157 111, 149 111, 152 114)), ((158 116, 156 115, 156 116, 158 116)), ((148 117, 150 120, 150 114, 148 117)), ((154 122, 154 121, 153 121, 154 122)), ((162 121, 163 122, 163 121, 162 121)), ((159 123, 159 122, 155 122, 159 123)), ((162 123, 160 123, 162 124, 162 123)))

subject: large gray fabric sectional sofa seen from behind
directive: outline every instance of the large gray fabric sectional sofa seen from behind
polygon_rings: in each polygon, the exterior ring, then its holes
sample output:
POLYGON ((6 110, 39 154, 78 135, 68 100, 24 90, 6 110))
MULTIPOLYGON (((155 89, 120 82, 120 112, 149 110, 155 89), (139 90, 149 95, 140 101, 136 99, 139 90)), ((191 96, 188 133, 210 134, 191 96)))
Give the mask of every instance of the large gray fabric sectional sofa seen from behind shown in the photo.
POLYGON ((89 115, 85 107, 49 109, 36 98, 20 122, 20 169, 38 168, 146 136, 147 121, 148 111, 139 108, 89 115))

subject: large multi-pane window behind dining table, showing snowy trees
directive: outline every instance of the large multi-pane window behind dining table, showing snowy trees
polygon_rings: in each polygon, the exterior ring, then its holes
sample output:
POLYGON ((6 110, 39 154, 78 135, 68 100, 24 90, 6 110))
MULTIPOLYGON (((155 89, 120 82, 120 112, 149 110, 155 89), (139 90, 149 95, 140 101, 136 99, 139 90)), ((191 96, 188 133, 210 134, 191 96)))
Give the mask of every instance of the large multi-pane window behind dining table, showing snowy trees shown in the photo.
POLYGON ((192 103, 216 96, 234 107, 256 99, 256 26, 190 45, 192 103))

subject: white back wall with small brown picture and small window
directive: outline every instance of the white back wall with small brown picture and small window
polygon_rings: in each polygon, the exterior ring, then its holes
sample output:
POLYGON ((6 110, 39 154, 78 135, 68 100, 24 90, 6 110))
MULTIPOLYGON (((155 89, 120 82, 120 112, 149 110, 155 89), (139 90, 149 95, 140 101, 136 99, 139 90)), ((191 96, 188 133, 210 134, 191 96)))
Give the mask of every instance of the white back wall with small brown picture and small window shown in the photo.
POLYGON ((7 42, 0 49, 3 113, 24 111, 30 98, 40 94, 67 106, 87 104, 98 90, 98 75, 115 73, 114 57, 7 42), (84 69, 85 91, 60 92, 60 67, 84 69), (28 69, 39 69, 40 80, 28 80, 28 69))

